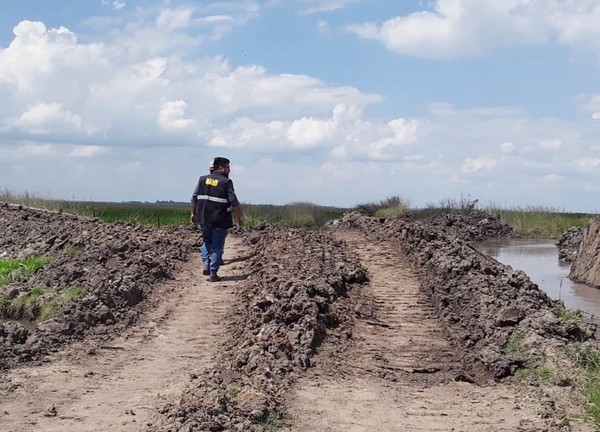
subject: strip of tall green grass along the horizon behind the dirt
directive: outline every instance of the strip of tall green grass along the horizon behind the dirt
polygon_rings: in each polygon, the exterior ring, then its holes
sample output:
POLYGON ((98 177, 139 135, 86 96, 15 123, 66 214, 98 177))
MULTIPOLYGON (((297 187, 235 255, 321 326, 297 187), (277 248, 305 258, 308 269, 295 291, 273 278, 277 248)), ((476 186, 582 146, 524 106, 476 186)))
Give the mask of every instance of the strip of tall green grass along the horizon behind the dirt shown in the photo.
MULTIPOLYGON (((159 202, 82 202, 39 198, 34 195, 14 194, 0 191, 0 201, 25 206, 63 211, 81 216, 98 217, 107 222, 130 221, 146 226, 187 225, 190 218, 188 203, 159 202)), ((446 198, 425 208, 411 208, 409 200, 392 196, 380 201, 358 204, 353 208, 316 205, 295 202, 286 205, 242 204, 247 226, 273 224, 288 228, 316 228, 340 219, 349 210, 357 210, 370 216, 390 218, 403 215, 426 217, 432 214, 473 211, 489 213, 513 228, 532 233, 538 237, 557 239, 567 229, 589 223, 594 215, 566 213, 552 207, 500 208, 490 205, 479 208, 479 200, 461 195, 458 199, 446 198)))

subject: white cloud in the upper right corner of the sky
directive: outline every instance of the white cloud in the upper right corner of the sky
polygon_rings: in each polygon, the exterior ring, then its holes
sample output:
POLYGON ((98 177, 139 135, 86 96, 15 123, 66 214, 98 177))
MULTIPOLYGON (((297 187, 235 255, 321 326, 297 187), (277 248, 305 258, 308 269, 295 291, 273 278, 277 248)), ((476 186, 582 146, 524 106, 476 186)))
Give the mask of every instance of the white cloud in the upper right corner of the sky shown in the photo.
POLYGON ((483 55, 499 47, 558 41, 600 53, 600 4, 593 0, 437 0, 432 10, 348 31, 399 54, 428 58, 483 55))

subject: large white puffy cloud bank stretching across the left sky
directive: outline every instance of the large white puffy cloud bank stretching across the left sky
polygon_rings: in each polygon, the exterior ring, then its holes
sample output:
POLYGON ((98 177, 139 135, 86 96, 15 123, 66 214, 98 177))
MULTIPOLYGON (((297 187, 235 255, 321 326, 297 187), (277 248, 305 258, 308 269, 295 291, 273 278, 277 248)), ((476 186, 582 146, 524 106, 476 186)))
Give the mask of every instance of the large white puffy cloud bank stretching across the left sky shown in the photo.
MULTIPOLYGON (((193 25, 193 13, 168 9, 157 15, 154 28, 176 34, 193 25)), ((187 138, 178 135, 179 144, 206 138, 211 145, 244 146, 254 136, 271 135, 282 139, 283 147, 301 149, 330 137, 318 129, 332 121, 323 116, 335 106, 365 107, 381 100, 306 75, 269 74, 255 65, 232 69, 222 57, 183 61, 168 43, 154 47, 164 48, 161 55, 144 49, 124 55, 132 52, 129 44, 145 47, 145 42, 82 43, 64 27, 21 22, 10 46, 0 49, 0 85, 8 84, 0 138, 16 130, 61 139, 69 132, 77 144, 122 145, 136 137, 143 145, 160 140, 160 134, 168 142, 173 132, 186 131, 187 138), (265 122, 273 112, 280 119, 265 122)))

